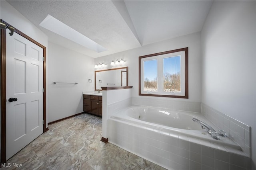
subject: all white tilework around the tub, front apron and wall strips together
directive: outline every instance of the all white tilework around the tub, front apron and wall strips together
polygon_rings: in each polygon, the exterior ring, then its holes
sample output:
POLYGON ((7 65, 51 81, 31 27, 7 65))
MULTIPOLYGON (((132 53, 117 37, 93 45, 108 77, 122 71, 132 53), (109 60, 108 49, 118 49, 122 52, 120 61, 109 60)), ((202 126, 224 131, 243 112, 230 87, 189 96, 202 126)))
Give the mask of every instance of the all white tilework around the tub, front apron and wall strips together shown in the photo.
POLYGON ((108 105, 108 139, 167 169, 251 169, 250 127, 220 113, 201 102, 132 97, 108 105), (162 107, 201 113, 214 125, 224 129, 241 150, 217 145, 182 134, 171 134, 162 129, 143 127, 111 118, 111 115, 131 105, 162 107), (202 107, 202 108, 201 108, 202 107), (218 117, 218 119, 216 119, 218 117))

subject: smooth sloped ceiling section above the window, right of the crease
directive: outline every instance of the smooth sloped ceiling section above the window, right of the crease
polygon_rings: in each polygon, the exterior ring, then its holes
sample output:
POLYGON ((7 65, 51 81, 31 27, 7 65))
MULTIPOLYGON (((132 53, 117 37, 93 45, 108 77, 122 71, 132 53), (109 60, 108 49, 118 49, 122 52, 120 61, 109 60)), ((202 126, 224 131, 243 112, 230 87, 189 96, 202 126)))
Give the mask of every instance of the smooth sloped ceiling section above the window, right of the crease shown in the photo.
POLYGON ((211 1, 125 1, 142 45, 201 31, 211 1))

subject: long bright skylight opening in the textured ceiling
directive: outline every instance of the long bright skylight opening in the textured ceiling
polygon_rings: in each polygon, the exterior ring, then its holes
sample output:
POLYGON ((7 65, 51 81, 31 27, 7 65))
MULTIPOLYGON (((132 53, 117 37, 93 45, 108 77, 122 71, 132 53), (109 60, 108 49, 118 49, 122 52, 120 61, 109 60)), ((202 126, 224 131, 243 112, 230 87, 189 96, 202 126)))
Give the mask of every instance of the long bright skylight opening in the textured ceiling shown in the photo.
POLYGON ((102 47, 98 43, 92 41, 88 37, 82 35, 78 31, 62 23, 51 15, 48 15, 39 25, 90 50, 96 51, 97 53, 107 51, 106 48, 102 47))

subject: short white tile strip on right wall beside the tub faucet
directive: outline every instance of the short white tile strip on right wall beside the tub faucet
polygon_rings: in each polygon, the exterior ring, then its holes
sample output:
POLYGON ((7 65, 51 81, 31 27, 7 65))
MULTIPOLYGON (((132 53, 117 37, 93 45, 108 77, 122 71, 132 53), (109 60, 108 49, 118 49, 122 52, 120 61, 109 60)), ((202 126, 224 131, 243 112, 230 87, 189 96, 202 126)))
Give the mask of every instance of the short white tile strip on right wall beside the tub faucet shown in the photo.
POLYGON ((219 129, 224 129, 226 134, 235 141, 246 156, 251 156, 251 127, 224 114, 206 104, 201 104, 201 113, 219 129))

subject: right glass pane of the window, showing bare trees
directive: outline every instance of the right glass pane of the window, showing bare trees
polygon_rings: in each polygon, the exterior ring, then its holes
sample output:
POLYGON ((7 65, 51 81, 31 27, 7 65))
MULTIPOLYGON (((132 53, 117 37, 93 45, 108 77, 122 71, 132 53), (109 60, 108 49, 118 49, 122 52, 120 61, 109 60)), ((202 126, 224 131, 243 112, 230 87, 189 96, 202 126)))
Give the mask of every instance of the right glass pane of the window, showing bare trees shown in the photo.
POLYGON ((164 92, 180 92, 180 56, 163 59, 164 92))

